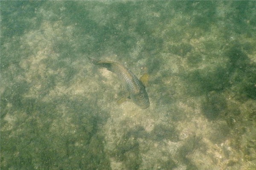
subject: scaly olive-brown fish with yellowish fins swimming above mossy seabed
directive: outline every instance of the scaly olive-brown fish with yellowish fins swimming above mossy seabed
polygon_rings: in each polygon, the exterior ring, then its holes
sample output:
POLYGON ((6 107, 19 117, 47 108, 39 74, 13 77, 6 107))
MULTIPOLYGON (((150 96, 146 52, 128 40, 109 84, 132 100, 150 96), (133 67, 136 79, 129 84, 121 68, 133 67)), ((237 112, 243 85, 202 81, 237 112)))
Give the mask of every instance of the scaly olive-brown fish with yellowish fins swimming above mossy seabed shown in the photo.
POLYGON ((134 102, 141 109, 146 109, 149 107, 150 102, 148 93, 145 90, 145 85, 143 84, 143 82, 148 79, 148 74, 144 74, 140 79, 138 79, 135 74, 117 62, 100 61, 91 57, 88 58, 93 64, 107 68, 108 71, 116 74, 117 77, 125 84, 129 94, 128 98, 131 99, 132 102, 134 102))

